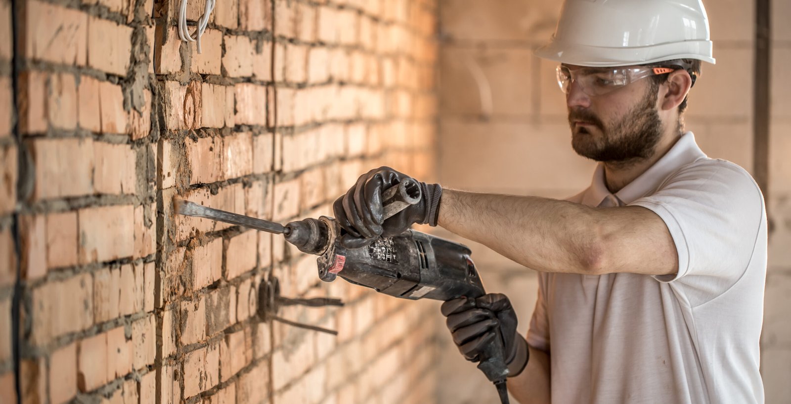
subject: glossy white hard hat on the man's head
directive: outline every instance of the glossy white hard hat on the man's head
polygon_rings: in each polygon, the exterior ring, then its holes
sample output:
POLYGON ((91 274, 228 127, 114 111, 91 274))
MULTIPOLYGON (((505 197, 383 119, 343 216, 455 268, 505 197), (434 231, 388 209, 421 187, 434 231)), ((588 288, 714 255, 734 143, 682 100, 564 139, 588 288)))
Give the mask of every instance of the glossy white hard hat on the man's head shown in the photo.
POLYGON ((536 56, 570 65, 714 63, 701 0, 566 0, 550 43, 536 56))

